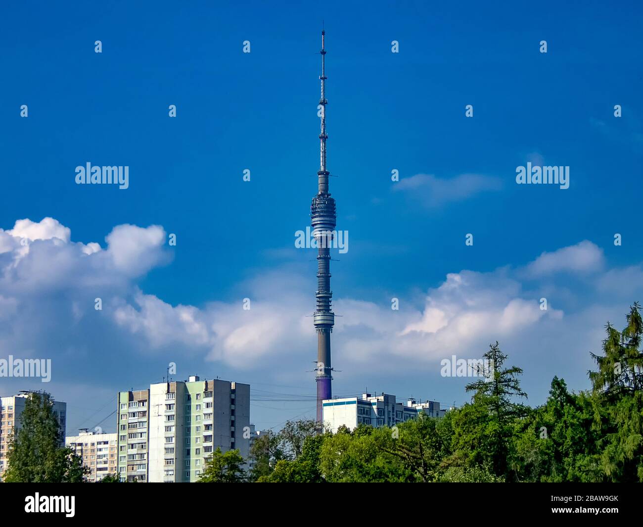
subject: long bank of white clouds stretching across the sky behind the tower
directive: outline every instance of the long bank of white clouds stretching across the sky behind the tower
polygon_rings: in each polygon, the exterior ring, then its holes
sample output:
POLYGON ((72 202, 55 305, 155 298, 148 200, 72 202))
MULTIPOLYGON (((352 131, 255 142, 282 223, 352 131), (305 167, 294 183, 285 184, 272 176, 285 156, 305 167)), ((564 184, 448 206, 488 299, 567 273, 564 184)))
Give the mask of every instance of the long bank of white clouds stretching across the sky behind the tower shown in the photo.
MULTIPOLYGON (((145 273, 168 262, 162 227, 118 225, 104 246, 73 241, 71 234, 50 218, 21 220, 0 230, 3 355, 47 353, 69 361, 85 357, 120 364, 170 350, 273 376, 312 369, 316 337, 309 316, 309 268, 283 264, 257 273, 236 284, 237 299, 213 298, 199 307, 172 305, 139 284, 145 273), (94 309, 96 297, 102 299, 102 311, 94 309), (249 310, 243 308, 244 297, 250 299, 249 310)), ((542 346, 543 335, 561 339, 572 331, 569 324, 581 330, 590 324, 581 316, 582 308, 568 313, 563 307, 574 302, 564 277, 556 282, 561 271, 586 277, 588 290, 602 295, 601 301, 613 299, 610 284, 642 273, 640 267, 603 271, 605 267, 601 249, 583 241, 545 252, 521 268, 449 273, 426 288, 420 300, 400 295, 397 311, 383 293, 370 299, 337 297, 334 311, 341 316, 333 334, 334 358, 350 371, 368 375, 410 367, 433 371, 441 358, 475 358, 495 340, 537 353, 534 346, 542 346), (540 302, 545 294, 547 310, 540 302)), ((605 310, 588 306, 586 311, 592 322, 604 323, 597 320, 605 310)))

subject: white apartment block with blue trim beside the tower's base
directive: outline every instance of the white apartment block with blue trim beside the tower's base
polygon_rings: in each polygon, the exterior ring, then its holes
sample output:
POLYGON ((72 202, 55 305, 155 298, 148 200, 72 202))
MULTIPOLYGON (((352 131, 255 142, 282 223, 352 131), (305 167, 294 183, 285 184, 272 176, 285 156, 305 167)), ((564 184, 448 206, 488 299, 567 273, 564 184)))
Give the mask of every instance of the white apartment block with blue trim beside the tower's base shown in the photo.
POLYGON ((440 410, 440 403, 436 401, 417 402, 410 399, 404 404, 397 402, 394 395, 385 393, 376 396, 363 393, 361 397, 327 399, 322 405, 324 426, 333 434, 342 425, 350 430, 360 424, 392 427, 416 418, 420 412, 431 417, 442 417, 446 413, 446 410, 440 410))

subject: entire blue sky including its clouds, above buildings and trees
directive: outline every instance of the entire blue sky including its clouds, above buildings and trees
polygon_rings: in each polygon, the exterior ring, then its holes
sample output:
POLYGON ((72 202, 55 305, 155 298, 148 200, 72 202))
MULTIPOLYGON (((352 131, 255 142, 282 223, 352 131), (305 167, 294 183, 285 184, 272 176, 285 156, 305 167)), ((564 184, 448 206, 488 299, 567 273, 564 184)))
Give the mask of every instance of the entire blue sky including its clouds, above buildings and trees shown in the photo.
POLYGON ((634 2, 5 6, 0 356, 52 358, 69 432, 170 361, 253 385, 259 428, 314 414, 314 252, 294 232, 316 191, 323 19, 350 244, 331 269, 334 392, 461 404, 441 358, 496 338, 530 403, 554 374, 588 387, 602 325, 643 299, 642 18, 634 2), (129 189, 76 185, 87 162, 129 166, 129 189), (570 188, 516 185, 527 162, 570 167, 570 188))

